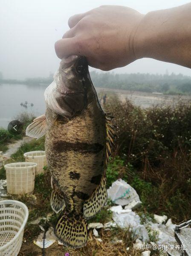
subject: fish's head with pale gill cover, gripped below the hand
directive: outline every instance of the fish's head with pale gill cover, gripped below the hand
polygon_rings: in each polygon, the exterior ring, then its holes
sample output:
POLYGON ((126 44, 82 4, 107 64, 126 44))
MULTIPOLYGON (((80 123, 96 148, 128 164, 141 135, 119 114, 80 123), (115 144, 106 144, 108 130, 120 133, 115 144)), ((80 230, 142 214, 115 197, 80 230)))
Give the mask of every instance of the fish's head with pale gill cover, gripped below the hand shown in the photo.
POLYGON ((53 112, 72 119, 87 106, 88 65, 83 56, 69 56, 62 59, 54 81, 46 88, 46 105, 53 112))

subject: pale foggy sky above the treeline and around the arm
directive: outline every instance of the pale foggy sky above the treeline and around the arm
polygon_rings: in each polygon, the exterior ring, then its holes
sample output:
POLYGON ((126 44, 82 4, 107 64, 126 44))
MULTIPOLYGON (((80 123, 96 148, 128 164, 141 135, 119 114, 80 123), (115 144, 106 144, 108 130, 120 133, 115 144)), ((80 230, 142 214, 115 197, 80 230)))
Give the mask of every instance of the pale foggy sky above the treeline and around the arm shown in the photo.
MULTIPOLYGON (((69 27, 70 16, 100 5, 128 6, 141 13, 167 9, 190 0, 0 0, 0 71, 4 78, 47 77, 58 68, 54 44, 69 27)), ((117 73, 174 72, 191 76, 191 69, 141 59, 117 73)))

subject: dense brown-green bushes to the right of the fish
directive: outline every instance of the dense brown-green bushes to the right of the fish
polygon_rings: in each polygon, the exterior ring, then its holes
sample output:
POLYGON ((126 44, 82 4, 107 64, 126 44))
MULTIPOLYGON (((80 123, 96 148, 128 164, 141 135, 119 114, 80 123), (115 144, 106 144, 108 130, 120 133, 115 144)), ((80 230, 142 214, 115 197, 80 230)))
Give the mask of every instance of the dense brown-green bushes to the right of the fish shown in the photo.
MULTIPOLYGON (((191 102, 141 109, 129 100, 122 103, 115 95, 108 97, 105 112, 116 117, 113 122, 119 127, 113 155, 136 170, 134 179, 129 168, 123 177, 139 192, 145 207, 150 212, 165 212, 176 221, 189 218, 191 102)), ((119 169, 109 164, 109 185, 121 177, 119 169)))

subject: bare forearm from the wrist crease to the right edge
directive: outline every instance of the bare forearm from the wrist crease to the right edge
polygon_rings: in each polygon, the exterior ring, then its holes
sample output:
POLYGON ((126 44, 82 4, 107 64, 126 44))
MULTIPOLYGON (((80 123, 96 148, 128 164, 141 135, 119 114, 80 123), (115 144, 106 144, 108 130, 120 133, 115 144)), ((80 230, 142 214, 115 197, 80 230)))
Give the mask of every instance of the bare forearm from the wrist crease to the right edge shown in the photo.
POLYGON ((191 3, 145 15, 134 37, 134 53, 137 59, 191 68, 191 3))

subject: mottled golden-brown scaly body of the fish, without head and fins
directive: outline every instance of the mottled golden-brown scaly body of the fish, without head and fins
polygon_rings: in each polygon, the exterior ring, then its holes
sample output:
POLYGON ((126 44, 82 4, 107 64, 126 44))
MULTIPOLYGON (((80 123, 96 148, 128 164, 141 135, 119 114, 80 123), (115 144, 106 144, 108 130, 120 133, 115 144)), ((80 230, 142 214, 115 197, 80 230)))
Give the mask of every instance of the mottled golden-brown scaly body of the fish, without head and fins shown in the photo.
MULTIPOLYGON (((101 178, 99 183, 93 183, 91 180, 98 175, 102 177, 105 172, 105 147, 105 115, 96 106, 88 106, 88 109, 77 118, 68 121, 67 124, 62 124, 60 121, 46 132, 46 156, 49 170, 53 178, 57 180, 58 188, 61 191, 68 188, 67 195, 65 195, 65 191, 63 195, 72 198, 72 205, 75 204, 75 206, 71 205, 71 200, 69 206, 72 209, 75 208, 76 212, 81 212, 84 200, 88 198, 86 195, 90 196, 101 182, 101 178), (59 134, 58 138, 55 138, 55 132, 59 134), (61 150, 61 147, 58 147, 57 139, 62 141, 62 144, 67 141, 70 147, 61 150), (81 148, 83 143, 90 145, 89 151, 81 148), (72 144, 77 145, 75 150, 72 150, 72 144), (93 144, 101 145, 102 149, 98 147, 98 152, 95 152, 96 150, 91 146, 93 144), (60 175, 61 166, 64 167, 63 176, 60 175), (69 174, 74 171, 79 174, 79 179, 70 178, 69 174), (70 187, 72 189, 69 189, 70 187), (84 198, 82 198, 82 193, 84 198)), ((69 210, 66 204, 66 211, 69 210)))

